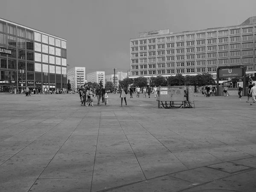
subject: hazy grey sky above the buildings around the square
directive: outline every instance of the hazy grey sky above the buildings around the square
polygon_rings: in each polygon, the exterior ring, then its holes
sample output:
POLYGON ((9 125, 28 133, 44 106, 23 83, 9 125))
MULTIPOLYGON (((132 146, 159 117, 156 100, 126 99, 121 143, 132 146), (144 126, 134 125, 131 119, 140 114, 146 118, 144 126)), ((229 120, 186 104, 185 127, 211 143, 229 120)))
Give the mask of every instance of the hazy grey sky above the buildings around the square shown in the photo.
POLYGON ((67 64, 86 73, 130 69, 138 32, 241 24, 256 0, 0 0, 0 18, 67 39, 67 64))

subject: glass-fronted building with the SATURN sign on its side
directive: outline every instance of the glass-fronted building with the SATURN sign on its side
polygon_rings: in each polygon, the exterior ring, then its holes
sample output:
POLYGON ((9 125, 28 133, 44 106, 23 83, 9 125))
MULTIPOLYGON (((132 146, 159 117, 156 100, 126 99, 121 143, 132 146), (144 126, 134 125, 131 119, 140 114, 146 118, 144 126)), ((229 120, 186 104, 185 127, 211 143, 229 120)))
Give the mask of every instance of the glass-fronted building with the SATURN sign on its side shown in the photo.
POLYGON ((0 19, 0 93, 67 86, 67 40, 0 19))

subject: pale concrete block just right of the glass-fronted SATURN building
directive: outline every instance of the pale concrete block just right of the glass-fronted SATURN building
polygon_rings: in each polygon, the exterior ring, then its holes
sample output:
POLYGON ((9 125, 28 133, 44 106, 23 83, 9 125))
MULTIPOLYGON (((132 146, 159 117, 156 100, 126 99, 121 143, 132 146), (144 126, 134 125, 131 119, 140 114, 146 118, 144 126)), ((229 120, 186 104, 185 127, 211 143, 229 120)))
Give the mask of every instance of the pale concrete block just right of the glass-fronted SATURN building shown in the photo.
POLYGON ((71 88, 83 86, 85 81, 85 67, 73 67, 67 70, 67 79, 70 80, 71 88))

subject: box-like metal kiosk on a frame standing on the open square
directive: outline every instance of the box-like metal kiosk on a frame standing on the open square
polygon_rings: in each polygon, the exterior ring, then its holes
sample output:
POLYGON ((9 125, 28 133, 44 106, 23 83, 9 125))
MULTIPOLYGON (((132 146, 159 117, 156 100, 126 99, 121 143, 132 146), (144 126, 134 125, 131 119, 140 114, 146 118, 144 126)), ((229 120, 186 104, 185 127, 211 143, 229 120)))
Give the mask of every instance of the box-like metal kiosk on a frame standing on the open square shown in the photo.
POLYGON ((158 108, 195 108, 193 86, 157 87, 158 108))

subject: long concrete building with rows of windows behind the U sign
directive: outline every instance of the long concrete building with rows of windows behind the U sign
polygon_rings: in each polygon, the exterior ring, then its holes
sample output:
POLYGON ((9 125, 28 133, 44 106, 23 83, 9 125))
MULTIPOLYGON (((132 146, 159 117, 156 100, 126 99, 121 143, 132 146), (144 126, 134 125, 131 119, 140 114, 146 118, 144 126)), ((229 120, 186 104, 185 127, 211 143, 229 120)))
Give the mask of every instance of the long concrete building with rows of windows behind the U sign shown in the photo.
MULTIPOLYGON (((130 39, 129 78, 216 74, 220 66, 244 65, 256 73, 256 17, 238 26, 169 33, 141 32, 130 39)), ((223 79, 227 80, 227 79, 223 79)))

